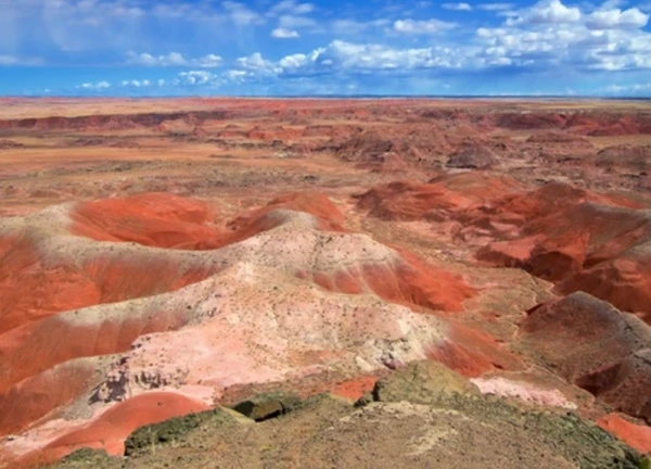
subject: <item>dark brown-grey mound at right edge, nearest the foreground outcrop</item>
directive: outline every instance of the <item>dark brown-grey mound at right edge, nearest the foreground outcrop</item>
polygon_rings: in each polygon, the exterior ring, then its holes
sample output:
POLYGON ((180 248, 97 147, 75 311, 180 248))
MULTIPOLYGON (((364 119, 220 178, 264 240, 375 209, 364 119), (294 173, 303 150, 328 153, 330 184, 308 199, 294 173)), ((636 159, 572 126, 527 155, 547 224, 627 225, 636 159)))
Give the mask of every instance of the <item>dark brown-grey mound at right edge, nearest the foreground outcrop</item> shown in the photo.
POLYGON ((651 330, 587 293, 539 305, 522 340, 565 379, 618 411, 651 422, 651 330))

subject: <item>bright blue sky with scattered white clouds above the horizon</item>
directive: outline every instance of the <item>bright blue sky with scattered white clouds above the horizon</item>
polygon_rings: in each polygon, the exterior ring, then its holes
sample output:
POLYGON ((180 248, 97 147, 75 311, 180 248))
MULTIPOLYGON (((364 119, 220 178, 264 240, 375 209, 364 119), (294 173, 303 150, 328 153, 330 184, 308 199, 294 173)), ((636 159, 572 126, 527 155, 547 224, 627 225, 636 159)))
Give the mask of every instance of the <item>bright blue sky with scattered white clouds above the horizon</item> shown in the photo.
POLYGON ((563 1, 0 0, 0 94, 651 96, 651 0, 563 1))

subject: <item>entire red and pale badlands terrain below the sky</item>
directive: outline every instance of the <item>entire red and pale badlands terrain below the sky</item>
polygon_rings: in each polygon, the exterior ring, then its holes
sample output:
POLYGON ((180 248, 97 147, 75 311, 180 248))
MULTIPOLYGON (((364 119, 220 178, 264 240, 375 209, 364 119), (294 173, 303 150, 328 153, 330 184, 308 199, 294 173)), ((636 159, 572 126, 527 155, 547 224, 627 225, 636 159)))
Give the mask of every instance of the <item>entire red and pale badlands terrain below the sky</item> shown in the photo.
POLYGON ((649 467, 651 103, 0 109, 0 467, 649 467))

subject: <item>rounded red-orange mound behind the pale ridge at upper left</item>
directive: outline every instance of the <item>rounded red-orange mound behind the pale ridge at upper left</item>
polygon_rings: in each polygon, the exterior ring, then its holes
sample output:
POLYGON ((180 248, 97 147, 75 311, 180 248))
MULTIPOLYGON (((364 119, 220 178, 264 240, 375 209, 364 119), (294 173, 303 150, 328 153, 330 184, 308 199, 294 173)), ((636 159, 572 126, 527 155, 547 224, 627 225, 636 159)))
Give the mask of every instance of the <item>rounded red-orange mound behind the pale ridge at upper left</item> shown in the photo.
POLYGON ((206 203, 168 193, 87 202, 71 216, 73 233, 98 241, 176 248, 222 236, 206 226, 214 218, 206 203))

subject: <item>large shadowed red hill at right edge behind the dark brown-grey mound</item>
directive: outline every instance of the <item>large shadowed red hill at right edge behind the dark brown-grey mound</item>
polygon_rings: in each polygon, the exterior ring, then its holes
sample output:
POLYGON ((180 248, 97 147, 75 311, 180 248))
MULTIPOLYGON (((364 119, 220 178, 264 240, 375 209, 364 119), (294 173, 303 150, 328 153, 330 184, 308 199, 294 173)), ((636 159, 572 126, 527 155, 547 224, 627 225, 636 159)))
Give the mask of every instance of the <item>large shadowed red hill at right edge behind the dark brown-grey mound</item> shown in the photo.
POLYGON ((481 249, 477 258, 525 268, 565 294, 583 290, 624 310, 651 310, 649 214, 592 202, 559 208, 533 216, 518 238, 481 249))

